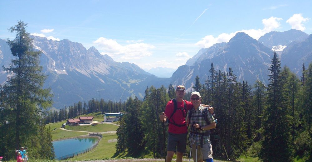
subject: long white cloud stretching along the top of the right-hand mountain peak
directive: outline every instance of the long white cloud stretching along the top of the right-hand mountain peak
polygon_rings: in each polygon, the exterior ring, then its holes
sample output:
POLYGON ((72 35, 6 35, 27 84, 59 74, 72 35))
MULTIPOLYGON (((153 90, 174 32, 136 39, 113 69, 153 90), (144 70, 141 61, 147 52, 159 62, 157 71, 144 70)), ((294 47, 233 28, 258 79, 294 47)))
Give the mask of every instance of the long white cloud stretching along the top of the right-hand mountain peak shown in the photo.
POLYGON ((235 36, 235 34, 238 32, 244 32, 254 39, 259 39, 264 34, 279 28, 280 27, 280 22, 279 22, 280 20, 282 20, 282 18, 278 18, 278 17, 270 17, 268 19, 263 19, 262 20, 262 24, 264 25, 263 29, 257 29, 257 30, 256 29, 249 29, 249 30, 235 31, 232 33, 222 33, 217 37, 214 37, 212 35, 208 35, 208 36, 205 36, 204 38, 202 38, 202 40, 198 41, 196 43, 196 45, 200 46, 201 48, 209 48, 216 43, 230 41, 230 39, 233 36, 235 36))

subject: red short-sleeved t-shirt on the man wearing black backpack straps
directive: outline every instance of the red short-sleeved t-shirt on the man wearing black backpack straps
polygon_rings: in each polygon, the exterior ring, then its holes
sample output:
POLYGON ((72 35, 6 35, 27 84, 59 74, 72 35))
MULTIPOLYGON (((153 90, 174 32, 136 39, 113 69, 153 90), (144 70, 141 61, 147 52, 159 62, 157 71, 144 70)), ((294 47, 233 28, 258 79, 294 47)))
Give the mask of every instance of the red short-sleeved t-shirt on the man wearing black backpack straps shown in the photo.
MULTIPOLYGON (((170 120, 170 122, 175 122, 176 124, 182 125, 185 124, 185 117, 186 113, 188 112, 188 110, 190 110, 191 108, 193 108, 193 105, 191 102, 189 101, 185 101, 185 107, 186 107, 186 111, 185 110, 179 110, 177 109, 177 111, 173 114, 172 119, 170 119, 171 114, 173 113, 174 110, 174 103, 173 101, 169 101, 166 105, 166 109, 165 109, 165 114, 168 117, 167 120, 170 120), (183 112, 184 111, 184 116, 183 116, 183 112)), ((177 102, 178 108, 183 108, 183 101, 182 102, 177 102)), ((175 133, 175 134, 183 134, 183 133, 187 133, 188 132, 188 128, 187 126, 175 126, 174 124, 169 124, 169 128, 168 128, 168 132, 170 133, 175 133)))

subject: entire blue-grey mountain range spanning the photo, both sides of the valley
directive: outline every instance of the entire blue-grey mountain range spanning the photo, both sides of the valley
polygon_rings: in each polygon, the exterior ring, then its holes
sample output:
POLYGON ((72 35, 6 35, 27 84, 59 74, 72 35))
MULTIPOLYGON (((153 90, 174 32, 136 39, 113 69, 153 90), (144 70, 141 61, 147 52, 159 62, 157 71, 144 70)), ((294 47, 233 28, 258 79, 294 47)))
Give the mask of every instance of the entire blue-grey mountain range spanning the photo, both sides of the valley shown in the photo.
MULTIPOLYGON (((44 87, 51 87, 55 108, 92 98, 125 101, 128 97, 144 97, 146 87, 156 88, 185 85, 192 91, 196 75, 203 83, 209 76, 211 63, 224 72, 232 67, 238 81, 254 84, 257 79, 268 83, 269 68, 274 50, 281 64, 301 74, 302 64, 312 61, 312 35, 302 31, 272 31, 255 40, 245 33, 237 33, 229 42, 217 43, 201 49, 171 77, 164 69, 151 69, 150 73, 129 62, 116 62, 101 55, 95 47, 86 49, 81 43, 70 40, 52 41, 33 36, 33 47, 42 50, 41 66, 48 75, 44 87), (154 71, 153 71, 154 70, 154 71), (159 74, 155 76, 153 74, 159 74), (167 77, 167 78, 161 78, 167 77)), ((8 66, 13 59, 9 46, 0 39, 0 64, 8 66)), ((172 72, 171 72, 172 73, 172 72)), ((3 83, 7 74, 0 72, 3 83)))

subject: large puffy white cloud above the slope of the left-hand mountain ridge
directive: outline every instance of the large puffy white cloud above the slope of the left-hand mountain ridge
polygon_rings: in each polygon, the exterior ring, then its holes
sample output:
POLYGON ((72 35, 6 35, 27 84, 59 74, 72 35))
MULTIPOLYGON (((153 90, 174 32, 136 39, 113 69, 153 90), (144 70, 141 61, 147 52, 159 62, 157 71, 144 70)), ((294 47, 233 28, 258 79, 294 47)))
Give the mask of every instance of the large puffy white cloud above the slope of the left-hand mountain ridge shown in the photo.
POLYGON ((108 54, 112 57, 120 55, 121 59, 140 59, 145 56, 152 55, 151 49, 154 45, 147 43, 134 43, 129 45, 120 45, 117 41, 100 37, 93 44, 97 45, 102 53, 108 54))

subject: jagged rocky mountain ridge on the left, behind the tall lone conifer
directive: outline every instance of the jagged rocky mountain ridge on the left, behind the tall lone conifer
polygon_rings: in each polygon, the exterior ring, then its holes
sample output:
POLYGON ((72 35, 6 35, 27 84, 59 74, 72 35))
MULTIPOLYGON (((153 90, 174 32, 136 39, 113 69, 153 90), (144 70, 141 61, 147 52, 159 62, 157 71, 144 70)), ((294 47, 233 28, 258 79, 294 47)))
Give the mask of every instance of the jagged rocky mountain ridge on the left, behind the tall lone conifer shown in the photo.
MULTIPOLYGON (((86 50, 81 43, 69 40, 52 41, 33 36, 34 48, 42 50, 41 66, 49 75, 44 87, 51 87, 56 108, 92 98, 124 101, 128 97, 144 97, 146 86, 168 85, 169 79, 144 71, 136 64, 115 62, 108 55, 101 55, 94 47, 86 50)), ((13 58, 6 41, 0 42, 3 58, 1 65, 8 66, 13 58), (3 46, 3 47, 2 47, 3 46), (8 49, 8 50, 7 50, 8 49), (8 60, 8 61, 7 61, 8 60)), ((1 55, 1 54, 0 54, 1 55)), ((6 74, 1 72, 1 83, 6 74)))

